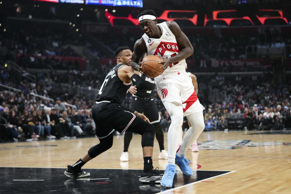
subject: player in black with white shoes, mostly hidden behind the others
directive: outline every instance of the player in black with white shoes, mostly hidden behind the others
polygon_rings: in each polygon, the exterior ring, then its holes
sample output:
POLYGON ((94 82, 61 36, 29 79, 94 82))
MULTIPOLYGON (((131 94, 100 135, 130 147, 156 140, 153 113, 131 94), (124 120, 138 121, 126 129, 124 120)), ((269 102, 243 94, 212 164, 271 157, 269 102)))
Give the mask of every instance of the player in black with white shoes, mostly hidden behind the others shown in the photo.
MULTIPOLYGON (((146 54, 144 55, 144 57, 146 57, 146 54)), ((155 80, 153 78, 146 77, 140 72, 136 72, 136 74, 140 75, 142 80, 155 83, 155 80)), ((168 159, 168 152, 165 150, 164 147, 164 133, 161 125, 161 116, 155 102, 154 92, 152 90, 137 89, 135 85, 129 88, 129 92, 132 94, 130 108, 136 110, 137 112, 145 114, 146 117, 149 118, 150 123, 155 126, 156 139, 158 140, 160 147, 159 159, 168 159)), ((128 161, 128 148, 131 139, 132 132, 126 131, 124 134, 124 148, 120 156, 121 162, 128 161)))

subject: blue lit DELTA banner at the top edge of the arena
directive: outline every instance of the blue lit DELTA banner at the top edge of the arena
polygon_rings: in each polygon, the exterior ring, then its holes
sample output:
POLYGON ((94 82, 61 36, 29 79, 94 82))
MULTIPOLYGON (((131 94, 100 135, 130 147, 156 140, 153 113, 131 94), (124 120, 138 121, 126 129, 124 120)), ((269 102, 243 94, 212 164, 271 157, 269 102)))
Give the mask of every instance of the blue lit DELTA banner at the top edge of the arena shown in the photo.
POLYGON ((142 7, 142 0, 86 0, 86 4, 109 5, 109 6, 126 6, 142 7))

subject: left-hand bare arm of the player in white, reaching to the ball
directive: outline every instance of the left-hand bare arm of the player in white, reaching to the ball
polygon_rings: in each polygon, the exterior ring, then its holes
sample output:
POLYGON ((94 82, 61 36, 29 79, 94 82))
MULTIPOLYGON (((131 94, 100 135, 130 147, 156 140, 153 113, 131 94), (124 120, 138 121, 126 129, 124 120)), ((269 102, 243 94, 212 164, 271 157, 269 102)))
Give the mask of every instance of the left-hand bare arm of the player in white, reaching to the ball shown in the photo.
POLYGON ((139 69, 140 59, 142 59, 145 52, 147 52, 146 43, 143 38, 141 38, 135 42, 131 57, 131 66, 135 71, 141 70, 139 69))

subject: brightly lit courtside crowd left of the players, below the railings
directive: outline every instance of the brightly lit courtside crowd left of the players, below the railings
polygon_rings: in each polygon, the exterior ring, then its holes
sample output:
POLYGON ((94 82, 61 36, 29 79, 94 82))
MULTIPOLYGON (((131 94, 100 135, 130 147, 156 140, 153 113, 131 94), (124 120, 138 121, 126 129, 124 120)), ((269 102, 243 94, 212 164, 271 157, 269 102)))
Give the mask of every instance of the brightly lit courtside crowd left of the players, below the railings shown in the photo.
POLYGON ((74 139, 93 135, 90 109, 72 109, 57 98, 55 104, 21 92, 0 94, 0 141, 74 139))

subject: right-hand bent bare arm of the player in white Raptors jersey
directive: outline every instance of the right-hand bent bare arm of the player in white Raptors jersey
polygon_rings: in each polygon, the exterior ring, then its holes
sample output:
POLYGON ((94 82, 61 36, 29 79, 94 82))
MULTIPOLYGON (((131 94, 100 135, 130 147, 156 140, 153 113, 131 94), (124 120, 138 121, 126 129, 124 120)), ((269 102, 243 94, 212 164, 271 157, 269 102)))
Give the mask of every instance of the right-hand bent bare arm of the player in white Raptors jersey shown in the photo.
POLYGON ((165 71, 170 64, 186 59, 187 57, 191 56, 194 52, 191 42, 184 34, 184 32, 182 32, 179 25, 174 21, 169 21, 166 23, 170 30, 173 32, 173 34, 176 36, 176 41, 181 51, 177 55, 169 59, 162 58, 163 61, 160 63, 163 64, 163 66, 161 66, 161 69, 162 68, 164 69, 163 71, 165 71))

